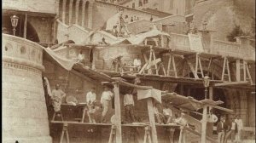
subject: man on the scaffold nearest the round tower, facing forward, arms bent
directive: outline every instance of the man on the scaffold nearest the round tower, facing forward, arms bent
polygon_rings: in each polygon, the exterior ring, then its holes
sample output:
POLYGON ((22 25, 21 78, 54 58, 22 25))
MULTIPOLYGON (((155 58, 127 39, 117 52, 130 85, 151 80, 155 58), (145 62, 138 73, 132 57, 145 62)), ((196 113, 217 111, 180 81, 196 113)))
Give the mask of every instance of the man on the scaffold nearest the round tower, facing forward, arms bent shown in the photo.
POLYGON ((61 112, 62 98, 65 96, 66 94, 60 89, 60 84, 56 84, 55 89, 53 89, 53 91, 51 92, 51 100, 52 100, 52 104, 54 106, 55 112, 61 112))

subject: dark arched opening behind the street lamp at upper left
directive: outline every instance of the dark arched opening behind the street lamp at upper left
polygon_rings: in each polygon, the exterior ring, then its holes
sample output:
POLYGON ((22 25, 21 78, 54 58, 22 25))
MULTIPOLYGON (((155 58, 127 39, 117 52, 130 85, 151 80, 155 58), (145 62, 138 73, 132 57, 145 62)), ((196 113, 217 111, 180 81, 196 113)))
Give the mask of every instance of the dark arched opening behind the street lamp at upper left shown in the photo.
MULTIPOLYGON (((4 33, 13 35, 13 27, 11 24, 10 16, 12 14, 3 15, 2 27, 5 29, 4 33)), ((15 36, 24 37, 24 20, 25 15, 17 15, 19 17, 18 25, 16 26, 15 36)), ((26 39, 31 40, 32 42, 39 43, 38 32, 32 26, 32 24, 27 20, 26 21, 26 39)))

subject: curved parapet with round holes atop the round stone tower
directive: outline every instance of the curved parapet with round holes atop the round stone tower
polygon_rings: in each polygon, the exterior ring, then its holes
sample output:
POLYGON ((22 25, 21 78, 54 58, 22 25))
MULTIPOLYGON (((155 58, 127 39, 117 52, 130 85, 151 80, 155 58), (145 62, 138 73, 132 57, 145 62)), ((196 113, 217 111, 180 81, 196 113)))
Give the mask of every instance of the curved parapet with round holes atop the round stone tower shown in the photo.
POLYGON ((2 36, 3 61, 44 70, 42 66, 44 47, 21 37, 8 34, 2 36))

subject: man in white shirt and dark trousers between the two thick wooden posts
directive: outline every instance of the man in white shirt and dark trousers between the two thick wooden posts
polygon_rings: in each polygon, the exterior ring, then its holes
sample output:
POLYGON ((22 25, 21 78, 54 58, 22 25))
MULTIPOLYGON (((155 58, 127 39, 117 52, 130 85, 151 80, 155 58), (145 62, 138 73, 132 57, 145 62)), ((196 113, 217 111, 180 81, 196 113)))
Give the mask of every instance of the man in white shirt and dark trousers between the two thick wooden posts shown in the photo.
POLYGON ((134 100, 133 100, 132 94, 125 94, 124 106, 125 106, 125 118, 127 122, 130 123, 131 121, 132 123, 134 123, 136 120, 134 116, 134 100))

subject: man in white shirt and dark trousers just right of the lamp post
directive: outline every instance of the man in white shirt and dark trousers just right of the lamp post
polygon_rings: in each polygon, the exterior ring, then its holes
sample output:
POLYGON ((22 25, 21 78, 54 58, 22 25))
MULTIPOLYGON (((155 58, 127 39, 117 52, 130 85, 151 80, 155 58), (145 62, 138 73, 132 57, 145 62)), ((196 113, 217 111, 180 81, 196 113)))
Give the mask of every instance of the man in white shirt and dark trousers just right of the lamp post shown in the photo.
POLYGON ((213 123, 216 123, 217 121, 218 117, 213 113, 213 110, 211 109, 207 115, 207 136, 212 137, 213 123))

